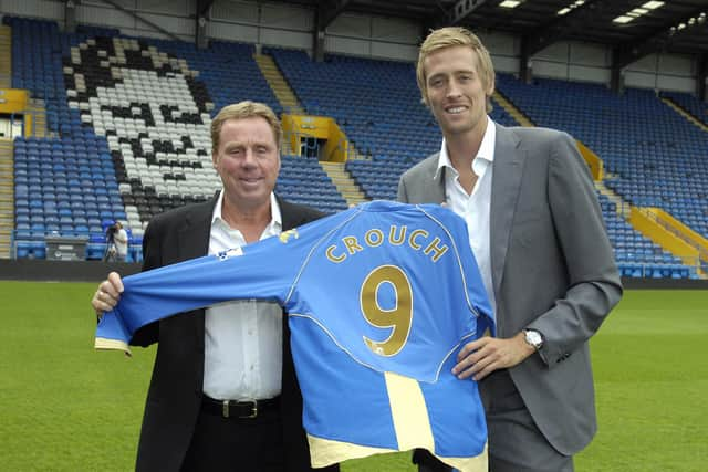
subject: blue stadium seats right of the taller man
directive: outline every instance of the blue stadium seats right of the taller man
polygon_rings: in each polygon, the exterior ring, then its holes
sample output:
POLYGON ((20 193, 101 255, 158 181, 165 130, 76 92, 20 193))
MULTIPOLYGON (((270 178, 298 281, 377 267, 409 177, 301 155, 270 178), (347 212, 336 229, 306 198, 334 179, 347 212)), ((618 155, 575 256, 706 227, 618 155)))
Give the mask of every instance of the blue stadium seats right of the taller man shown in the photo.
MULTIPOLYGON (((544 78, 524 84, 508 74, 498 75, 498 88, 538 126, 566 130, 592 148, 608 171, 605 186, 624 202, 662 208, 708 235, 708 165, 701 159, 708 134, 653 91, 628 88, 616 95, 603 85, 544 78)), ((674 276, 668 266, 680 261, 669 261, 668 253, 657 260, 656 248, 646 247, 650 241, 636 231, 632 238, 625 234, 610 234, 625 275, 674 276), (625 271, 625 262, 642 265, 641 275, 625 271)), ((687 276, 697 276, 695 268, 687 276)))

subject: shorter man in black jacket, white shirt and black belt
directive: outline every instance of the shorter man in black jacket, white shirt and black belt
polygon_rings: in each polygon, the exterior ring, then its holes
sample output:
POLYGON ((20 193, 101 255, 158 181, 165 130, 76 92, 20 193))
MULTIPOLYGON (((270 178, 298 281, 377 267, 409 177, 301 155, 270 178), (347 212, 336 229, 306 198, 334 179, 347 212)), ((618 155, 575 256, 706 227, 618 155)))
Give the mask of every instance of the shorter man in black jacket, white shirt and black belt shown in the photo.
MULTIPOLYGON (((150 221, 143 270, 279 234, 322 214, 275 197, 282 129, 266 105, 241 102, 211 122, 223 189, 150 221)), ((92 300, 101 314, 123 283, 112 272, 92 300)), ((158 343, 137 453, 138 471, 309 471, 302 397, 288 325, 273 303, 237 301, 138 331, 158 343)), ((337 468, 333 468, 336 470, 337 468)))

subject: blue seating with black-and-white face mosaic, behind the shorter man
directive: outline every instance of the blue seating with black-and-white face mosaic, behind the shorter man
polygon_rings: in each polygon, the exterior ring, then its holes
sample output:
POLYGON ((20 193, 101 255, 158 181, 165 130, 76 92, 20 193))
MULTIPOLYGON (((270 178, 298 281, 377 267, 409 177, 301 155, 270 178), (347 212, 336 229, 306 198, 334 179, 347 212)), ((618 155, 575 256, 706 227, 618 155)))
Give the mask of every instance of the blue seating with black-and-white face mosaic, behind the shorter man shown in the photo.
MULTIPOLYGON (((17 258, 42 259, 44 237, 62 235, 88 238, 87 259, 102 259, 105 230, 121 220, 129 259, 140 260, 143 229, 154 214, 201 201, 220 186, 208 90, 217 91, 218 106, 248 98, 281 111, 252 45, 214 42, 197 53, 187 43, 110 29, 63 34, 54 22, 3 22, 13 31, 13 84, 44 101, 53 136, 15 140, 17 258)), ((316 160, 283 160, 281 195, 326 212, 346 208, 316 160)))

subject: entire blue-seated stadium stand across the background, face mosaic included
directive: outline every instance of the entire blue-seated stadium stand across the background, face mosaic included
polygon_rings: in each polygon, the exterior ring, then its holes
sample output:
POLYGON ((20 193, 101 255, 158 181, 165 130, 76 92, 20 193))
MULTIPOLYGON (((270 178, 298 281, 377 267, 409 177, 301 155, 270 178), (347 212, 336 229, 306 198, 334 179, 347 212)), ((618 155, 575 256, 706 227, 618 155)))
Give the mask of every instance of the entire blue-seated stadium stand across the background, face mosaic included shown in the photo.
MULTIPOLYGON (((42 259, 46 235, 85 237, 86 258, 102 259, 115 220, 139 261, 142 233, 162 211, 208 198, 219 187, 210 162, 216 109, 256 99, 283 112, 250 44, 212 41, 206 50, 178 41, 122 36, 54 22, 4 17, 12 27, 13 86, 46 109, 49 138, 18 138, 14 151, 15 256, 42 259), (111 66, 119 64, 119 72, 111 66)), ((346 170, 369 199, 395 199, 400 174, 437 151, 441 135, 420 103, 412 63, 335 54, 313 62, 303 51, 264 48, 311 115, 336 119, 360 159, 346 170)), ((705 156, 708 138, 653 92, 612 94, 602 85, 498 74, 497 88, 539 126, 564 129, 595 150, 605 185, 634 206, 664 208, 708 234, 705 156), (591 112, 589 112, 591 111, 591 112), (641 159, 637 159, 641 156, 641 159), (668 165, 670 162, 670 165, 668 165)), ((705 104, 666 94, 706 120, 705 104), (702 107, 702 108, 701 108, 702 107), (702 111, 702 115, 699 113, 702 111)), ((498 104, 491 113, 518 123, 498 104)), ((277 191, 325 212, 346 208, 314 158, 283 156, 277 191)), ((622 274, 697 277, 598 193, 622 274)))

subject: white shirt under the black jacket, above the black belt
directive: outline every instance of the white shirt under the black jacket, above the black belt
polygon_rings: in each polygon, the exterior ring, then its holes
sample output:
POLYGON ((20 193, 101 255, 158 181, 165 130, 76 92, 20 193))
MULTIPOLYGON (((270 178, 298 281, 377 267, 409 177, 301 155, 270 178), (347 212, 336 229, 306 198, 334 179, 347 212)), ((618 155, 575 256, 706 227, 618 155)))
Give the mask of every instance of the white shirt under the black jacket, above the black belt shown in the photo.
MULTIPOLYGON (((260 239, 280 234, 282 219, 271 193, 271 221, 260 239)), ((209 254, 246 245, 239 230, 221 218, 219 195, 209 233, 209 254)), ((282 308, 272 302, 239 300, 206 310, 204 392, 218 400, 266 399, 280 395, 282 308)))

